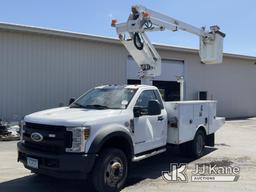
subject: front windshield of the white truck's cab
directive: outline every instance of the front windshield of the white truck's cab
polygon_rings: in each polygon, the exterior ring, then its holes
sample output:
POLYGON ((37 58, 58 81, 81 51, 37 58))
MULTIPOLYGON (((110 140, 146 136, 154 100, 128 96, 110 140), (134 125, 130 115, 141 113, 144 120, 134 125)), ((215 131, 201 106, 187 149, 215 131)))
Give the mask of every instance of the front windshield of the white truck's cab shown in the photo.
POLYGON ((70 107, 88 109, 125 109, 137 89, 124 87, 95 88, 81 96, 70 107))

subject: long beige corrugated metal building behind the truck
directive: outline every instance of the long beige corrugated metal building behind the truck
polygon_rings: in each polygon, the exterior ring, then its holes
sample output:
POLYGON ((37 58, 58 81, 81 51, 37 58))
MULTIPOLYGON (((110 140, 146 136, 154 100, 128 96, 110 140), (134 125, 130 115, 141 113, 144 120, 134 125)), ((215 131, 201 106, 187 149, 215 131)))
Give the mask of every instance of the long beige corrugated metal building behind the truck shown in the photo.
MULTIPOLYGON (((218 100, 218 115, 256 115, 256 57, 224 54, 205 65, 198 50, 156 45, 162 75, 154 85, 166 100, 179 99, 176 76, 184 76, 185 99, 218 100)), ((139 83, 134 61, 116 39, 0 24, 0 118, 66 105, 70 97, 102 84, 139 83)))

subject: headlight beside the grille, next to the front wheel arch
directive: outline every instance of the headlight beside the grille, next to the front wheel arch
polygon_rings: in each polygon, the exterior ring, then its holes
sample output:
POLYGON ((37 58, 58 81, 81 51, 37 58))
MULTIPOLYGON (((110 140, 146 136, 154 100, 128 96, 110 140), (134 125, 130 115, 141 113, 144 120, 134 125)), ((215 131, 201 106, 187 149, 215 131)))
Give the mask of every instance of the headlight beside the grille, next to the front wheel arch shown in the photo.
POLYGON ((66 152, 84 152, 86 141, 90 137, 90 127, 68 127, 67 131, 72 132, 72 147, 66 148, 66 152))

